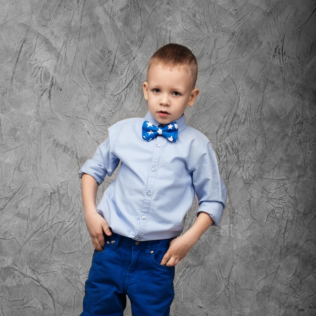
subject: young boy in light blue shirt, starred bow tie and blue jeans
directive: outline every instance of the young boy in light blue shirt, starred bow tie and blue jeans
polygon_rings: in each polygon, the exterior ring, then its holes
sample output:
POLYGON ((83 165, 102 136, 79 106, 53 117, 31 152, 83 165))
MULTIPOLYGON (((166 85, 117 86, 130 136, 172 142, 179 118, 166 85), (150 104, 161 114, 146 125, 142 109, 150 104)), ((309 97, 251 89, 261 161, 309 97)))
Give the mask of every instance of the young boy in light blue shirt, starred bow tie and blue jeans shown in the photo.
POLYGON ((199 93, 197 62, 178 44, 150 58, 143 83, 148 113, 120 121, 80 170, 87 229, 95 248, 82 315, 122 316, 126 295, 135 316, 167 316, 174 267, 211 226, 220 225, 227 189, 209 140, 185 124, 199 93), (145 120, 145 121, 144 121, 145 120), (121 162, 95 206, 98 185, 121 162), (179 237, 199 200, 197 219, 179 237))

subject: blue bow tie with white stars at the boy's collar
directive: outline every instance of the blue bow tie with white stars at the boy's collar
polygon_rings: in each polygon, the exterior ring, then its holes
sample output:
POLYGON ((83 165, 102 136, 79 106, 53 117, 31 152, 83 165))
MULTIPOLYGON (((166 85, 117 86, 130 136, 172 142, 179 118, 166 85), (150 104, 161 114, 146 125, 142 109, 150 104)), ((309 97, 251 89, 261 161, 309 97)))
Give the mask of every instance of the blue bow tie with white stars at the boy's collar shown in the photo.
POLYGON ((165 127, 157 127, 148 121, 143 123, 143 139, 150 141, 158 135, 165 136, 169 141, 176 141, 178 136, 177 122, 172 122, 165 127))

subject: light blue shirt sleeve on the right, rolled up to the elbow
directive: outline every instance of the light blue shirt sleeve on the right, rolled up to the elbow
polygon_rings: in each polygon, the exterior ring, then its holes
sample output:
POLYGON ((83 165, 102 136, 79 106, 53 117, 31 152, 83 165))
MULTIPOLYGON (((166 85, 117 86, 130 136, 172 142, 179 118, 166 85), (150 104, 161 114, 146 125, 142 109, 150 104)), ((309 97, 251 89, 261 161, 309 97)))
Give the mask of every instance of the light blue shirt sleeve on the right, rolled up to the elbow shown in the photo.
POLYGON ((193 172, 193 184, 199 201, 197 214, 205 212, 216 226, 226 206, 227 188, 219 171, 216 155, 210 143, 203 148, 193 172))

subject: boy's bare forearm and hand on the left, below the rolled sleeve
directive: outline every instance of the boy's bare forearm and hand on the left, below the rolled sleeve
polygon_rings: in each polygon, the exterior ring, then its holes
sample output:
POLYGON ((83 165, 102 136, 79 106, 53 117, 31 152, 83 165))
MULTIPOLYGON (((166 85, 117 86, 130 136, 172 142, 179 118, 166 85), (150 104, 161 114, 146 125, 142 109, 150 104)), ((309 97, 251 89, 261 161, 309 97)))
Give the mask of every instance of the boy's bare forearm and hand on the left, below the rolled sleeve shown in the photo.
POLYGON ((84 209, 84 219, 92 244, 95 250, 102 251, 104 247, 103 232, 108 236, 112 235, 111 229, 104 218, 96 212, 95 198, 97 192, 97 182, 86 173, 81 178, 81 193, 84 209))

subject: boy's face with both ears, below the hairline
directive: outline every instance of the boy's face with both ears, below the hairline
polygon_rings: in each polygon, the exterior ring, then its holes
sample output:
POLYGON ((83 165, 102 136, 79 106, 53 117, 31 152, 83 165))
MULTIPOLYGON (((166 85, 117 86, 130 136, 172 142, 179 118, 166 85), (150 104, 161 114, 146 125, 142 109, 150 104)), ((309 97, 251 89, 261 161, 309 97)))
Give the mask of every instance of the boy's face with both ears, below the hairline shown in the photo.
POLYGON ((180 119, 186 107, 193 106, 198 95, 198 88, 192 86, 191 72, 186 67, 152 64, 147 81, 143 83, 150 114, 161 124, 180 119))

